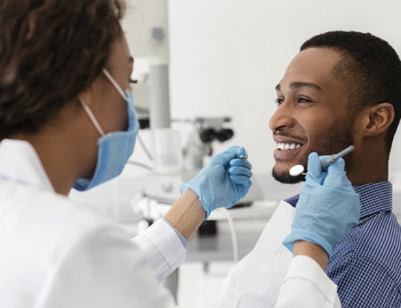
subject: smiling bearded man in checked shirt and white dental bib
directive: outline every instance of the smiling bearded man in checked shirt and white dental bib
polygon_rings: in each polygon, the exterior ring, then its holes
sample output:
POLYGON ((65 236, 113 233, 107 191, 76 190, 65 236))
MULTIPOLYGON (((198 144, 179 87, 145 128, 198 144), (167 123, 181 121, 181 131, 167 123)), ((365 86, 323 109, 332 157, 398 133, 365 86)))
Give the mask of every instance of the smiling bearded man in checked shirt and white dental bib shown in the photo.
MULTIPOLYGON (((371 34, 314 36, 289 63, 276 94, 278 107, 269 123, 277 144, 274 179, 305 181, 305 175, 289 175, 289 168, 302 164, 306 169, 309 153, 329 155, 355 147, 344 159, 361 216, 334 246, 326 270, 338 285, 342 307, 400 307, 401 227, 391 213, 388 181, 389 153, 401 117, 396 51, 371 34)), ((220 307, 274 307, 292 257, 282 243, 291 232, 298 199, 281 201, 253 251, 233 267, 220 307)))

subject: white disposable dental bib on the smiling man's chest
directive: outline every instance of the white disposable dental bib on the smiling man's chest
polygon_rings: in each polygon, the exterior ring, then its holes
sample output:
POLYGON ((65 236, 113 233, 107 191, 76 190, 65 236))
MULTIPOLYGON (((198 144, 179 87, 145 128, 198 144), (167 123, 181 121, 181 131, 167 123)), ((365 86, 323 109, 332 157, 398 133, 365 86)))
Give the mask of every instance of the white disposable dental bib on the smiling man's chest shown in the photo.
POLYGON ((292 260, 282 242, 291 231, 295 210, 281 201, 253 251, 230 270, 217 307, 274 307, 292 260))

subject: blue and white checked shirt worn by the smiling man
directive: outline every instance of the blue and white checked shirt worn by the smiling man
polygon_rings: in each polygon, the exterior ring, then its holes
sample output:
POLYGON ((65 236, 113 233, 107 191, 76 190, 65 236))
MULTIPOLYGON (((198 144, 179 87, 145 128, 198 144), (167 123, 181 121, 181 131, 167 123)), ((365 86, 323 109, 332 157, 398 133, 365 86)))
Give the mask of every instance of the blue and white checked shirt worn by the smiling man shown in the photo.
MULTIPOLYGON (((326 273, 342 307, 401 307, 401 226, 391 213, 389 182, 354 186, 361 218, 333 249, 326 273)), ((286 201, 295 206, 298 196, 286 201)))

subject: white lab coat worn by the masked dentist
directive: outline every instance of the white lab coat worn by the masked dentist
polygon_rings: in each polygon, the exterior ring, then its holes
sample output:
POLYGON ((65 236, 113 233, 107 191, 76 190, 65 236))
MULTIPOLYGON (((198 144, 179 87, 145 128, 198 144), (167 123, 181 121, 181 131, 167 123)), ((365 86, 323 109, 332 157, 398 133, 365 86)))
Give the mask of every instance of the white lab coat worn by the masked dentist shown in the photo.
MULTIPOLYGON (((17 140, 0 142, 0 247, 0 307, 172 307, 157 279, 186 253, 163 220, 132 240, 90 205, 55 194, 32 146, 17 140)), ((300 307, 288 296, 308 279, 311 300, 328 292, 313 283, 322 277, 302 275, 290 267, 280 307, 300 307)))

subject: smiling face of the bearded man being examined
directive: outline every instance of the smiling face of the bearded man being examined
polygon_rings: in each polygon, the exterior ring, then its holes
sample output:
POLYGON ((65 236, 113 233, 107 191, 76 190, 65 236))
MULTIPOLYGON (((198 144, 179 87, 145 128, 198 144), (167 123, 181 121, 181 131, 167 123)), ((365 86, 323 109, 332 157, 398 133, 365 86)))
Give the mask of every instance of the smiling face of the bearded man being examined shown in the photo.
POLYGON ((270 118, 277 148, 272 175, 281 183, 298 183, 289 168, 308 155, 337 153, 352 144, 354 115, 349 113, 348 85, 337 79, 333 67, 341 54, 328 48, 309 48, 290 62, 276 86, 277 110, 270 118))

